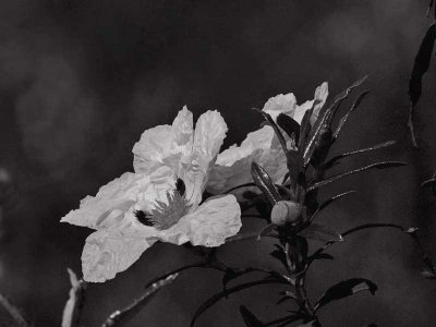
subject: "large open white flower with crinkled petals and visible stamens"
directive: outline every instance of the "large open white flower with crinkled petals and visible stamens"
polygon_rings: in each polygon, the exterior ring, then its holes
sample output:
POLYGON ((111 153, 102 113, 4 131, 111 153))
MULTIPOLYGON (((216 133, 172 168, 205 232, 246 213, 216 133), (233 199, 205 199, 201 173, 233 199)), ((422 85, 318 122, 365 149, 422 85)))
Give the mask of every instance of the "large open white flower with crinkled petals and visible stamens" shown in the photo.
POLYGON ((96 229, 82 254, 84 279, 102 282, 129 268, 157 241, 219 246, 238 233, 233 195, 202 202, 227 125, 217 111, 198 118, 183 108, 172 125, 143 133, 133 147, 135 173, 126 172, 61 221, 96 229))

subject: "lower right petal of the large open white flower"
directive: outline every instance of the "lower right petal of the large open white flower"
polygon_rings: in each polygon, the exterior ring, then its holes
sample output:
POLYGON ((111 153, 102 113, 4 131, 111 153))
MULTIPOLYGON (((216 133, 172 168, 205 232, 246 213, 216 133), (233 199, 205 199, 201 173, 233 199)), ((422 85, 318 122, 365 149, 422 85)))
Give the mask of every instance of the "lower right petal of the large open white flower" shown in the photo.
POLYGON ((238 233, 241 223, 241 208, 233 195, 207 199, 196 210, 182 217, 178 223, 161 231, 164 242, 193 245, 219 246, 227 238, 238 233))

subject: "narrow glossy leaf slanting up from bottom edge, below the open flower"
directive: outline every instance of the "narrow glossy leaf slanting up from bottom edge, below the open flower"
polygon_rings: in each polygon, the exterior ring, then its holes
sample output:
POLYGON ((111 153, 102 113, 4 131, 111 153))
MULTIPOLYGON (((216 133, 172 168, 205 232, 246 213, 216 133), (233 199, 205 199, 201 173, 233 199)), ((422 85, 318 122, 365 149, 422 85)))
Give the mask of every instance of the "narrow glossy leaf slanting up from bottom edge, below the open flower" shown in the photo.
POLYGON ((134 317, 145 305, 149 303, 149 301, 154 298, 154 295, 156 295, 158 291, 160 291, 161 288, 173 282, 178 276, 179 274, 173 274, 165 279, 160 279, 159 281, 154 282, 145 290, 144 294, 141 298, 134 300, 132 304, 121 311, 118 310, 113 312, 102 324, 102 327, 125 326, 132 317, 134 317))

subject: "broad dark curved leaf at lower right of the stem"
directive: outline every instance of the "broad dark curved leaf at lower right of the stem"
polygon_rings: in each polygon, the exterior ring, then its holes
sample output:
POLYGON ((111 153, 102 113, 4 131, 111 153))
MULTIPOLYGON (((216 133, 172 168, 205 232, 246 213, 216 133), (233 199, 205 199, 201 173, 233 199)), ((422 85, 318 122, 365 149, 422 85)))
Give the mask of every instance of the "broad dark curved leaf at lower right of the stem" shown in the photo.
POLYGON ((314 306, 314 310, 316 312, 318 308, 332 301, 338 301, 365 290, 370 291, 374 295, 375 291, 377 290, 377 286, 373 281, 364 278, 351 278, 340 281, 330 287, 319 298, 314 306))

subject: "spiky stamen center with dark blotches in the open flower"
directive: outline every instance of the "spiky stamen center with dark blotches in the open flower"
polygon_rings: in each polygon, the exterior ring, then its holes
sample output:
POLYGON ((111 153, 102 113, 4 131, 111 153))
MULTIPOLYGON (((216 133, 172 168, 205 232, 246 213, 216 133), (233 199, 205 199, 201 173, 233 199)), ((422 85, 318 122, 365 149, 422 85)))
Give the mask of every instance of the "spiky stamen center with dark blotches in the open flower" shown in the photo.
POLYGON ((153 226, 158 230, 166 230, 174 226, 180 218, 187 214, 189 202, 184 197, 185 185, 181 179, 175 183, 172 194, 167 193, 167 202, 156 201, 155 208, 149 213, 136 210, 137 220, 145 226, 153 226))

